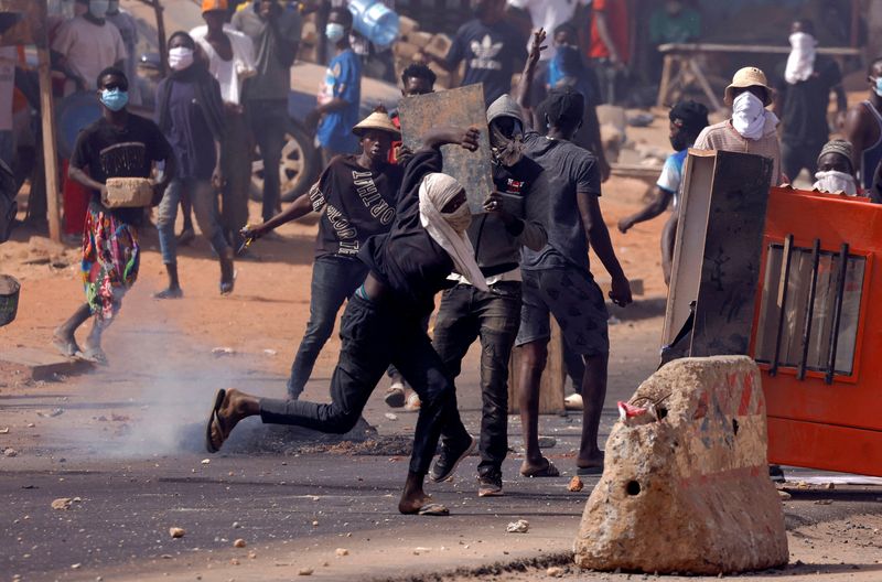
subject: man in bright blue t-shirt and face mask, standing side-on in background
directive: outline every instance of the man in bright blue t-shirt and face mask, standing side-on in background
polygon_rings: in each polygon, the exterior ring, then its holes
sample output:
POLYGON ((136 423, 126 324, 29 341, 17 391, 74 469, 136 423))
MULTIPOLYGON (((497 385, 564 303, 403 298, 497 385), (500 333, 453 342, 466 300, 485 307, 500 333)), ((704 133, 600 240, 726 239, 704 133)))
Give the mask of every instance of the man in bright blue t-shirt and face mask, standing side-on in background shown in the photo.
POLYGON ((315 141, 322 148, 325 165, 334 155, 354 153, 358 148, 352 128, 358 122, 362 62, 349 46, 349 31, 352 13, 348 9, 331 10, 324 34, 335 46, 336 54, 327 64, 318 96, 319 106, 306 116, 308 127, 318 123, 315 141))

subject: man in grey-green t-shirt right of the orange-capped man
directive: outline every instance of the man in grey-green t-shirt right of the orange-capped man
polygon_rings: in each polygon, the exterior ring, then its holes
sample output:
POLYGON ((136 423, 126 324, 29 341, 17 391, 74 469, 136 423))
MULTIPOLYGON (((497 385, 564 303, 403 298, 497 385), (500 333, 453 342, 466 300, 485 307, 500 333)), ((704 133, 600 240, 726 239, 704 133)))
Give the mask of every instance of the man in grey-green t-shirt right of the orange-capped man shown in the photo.
POLYGON ((244 97, 245 111, 263 160, 266 222, 279 206, 279 163, 289 126, 291 65, 300 47, 301 19, 295 10, 283 8, 277 0, 255 0, 236 12, 233 25, 255 45, 257 75, 246 82, 244 97))

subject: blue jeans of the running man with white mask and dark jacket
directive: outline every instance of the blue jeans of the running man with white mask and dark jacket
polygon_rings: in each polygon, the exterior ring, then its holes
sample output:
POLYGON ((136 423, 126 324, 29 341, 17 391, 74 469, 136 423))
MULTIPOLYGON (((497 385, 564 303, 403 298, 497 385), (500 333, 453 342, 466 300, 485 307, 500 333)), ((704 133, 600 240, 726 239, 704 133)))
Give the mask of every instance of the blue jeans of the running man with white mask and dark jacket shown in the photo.
POLYGON ((220 217, 217 206, 217 193, 206 180, 184 179, 172 180, 157 212, 157 230, 159 230, 159 248, 162 251, 163 265, 178 262, 178 238, 174 236, 174 222, 178 219, 178 205, 181 196, 186 192, 193 204, 193 212, 205 238, 212 248, 222 257, 229 248, 224 229, 220 227, 220 217))

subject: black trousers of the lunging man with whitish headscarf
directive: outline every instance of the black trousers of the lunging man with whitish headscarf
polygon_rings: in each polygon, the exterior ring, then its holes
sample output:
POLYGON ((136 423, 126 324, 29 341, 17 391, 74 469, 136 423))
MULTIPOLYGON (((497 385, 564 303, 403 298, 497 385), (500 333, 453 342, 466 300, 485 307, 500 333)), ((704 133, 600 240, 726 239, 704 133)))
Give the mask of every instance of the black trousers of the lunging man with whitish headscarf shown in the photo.
POLYGON ((341 319, 340 336, 343 344, 331 378, 331 403, 263 398, 260 400, 263 422, 338 434, 348 432, 362 416, 377 381, 389 364, 395 364, 421 402, 410 471, 428 473, 442 425, 451 438, 467 438, 456 413, 453 379, 432 349, 418 315, 353 295, 341 319))

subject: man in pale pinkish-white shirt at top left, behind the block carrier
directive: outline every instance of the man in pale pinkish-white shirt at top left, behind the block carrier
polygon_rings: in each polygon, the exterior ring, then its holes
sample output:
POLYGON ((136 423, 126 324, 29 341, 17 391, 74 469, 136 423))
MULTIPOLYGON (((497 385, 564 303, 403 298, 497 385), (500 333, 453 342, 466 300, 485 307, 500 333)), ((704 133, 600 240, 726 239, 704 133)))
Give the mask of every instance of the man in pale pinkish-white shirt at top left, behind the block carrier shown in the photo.
POLYGON ((98 73, 122 67, 128 56, 119 29, 106 20, 108 0, 76 0, 87 10, 58 26, 52 42, 53 63, 69 79, 65 95, 95 90, 98 73))

